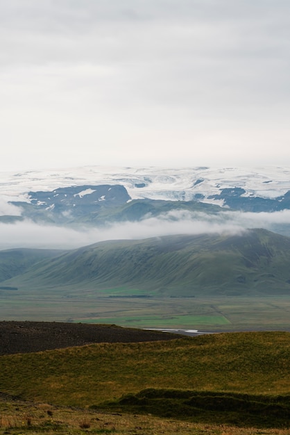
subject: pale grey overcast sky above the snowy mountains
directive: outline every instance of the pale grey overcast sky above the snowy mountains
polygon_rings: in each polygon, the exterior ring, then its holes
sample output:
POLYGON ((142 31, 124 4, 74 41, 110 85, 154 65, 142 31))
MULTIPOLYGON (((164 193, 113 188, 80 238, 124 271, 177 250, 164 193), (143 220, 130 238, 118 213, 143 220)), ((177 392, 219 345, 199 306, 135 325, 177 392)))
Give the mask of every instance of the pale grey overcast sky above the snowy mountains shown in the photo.
POLYGON ((0 170, 290 165, 289 0, 0 0, 0 170))

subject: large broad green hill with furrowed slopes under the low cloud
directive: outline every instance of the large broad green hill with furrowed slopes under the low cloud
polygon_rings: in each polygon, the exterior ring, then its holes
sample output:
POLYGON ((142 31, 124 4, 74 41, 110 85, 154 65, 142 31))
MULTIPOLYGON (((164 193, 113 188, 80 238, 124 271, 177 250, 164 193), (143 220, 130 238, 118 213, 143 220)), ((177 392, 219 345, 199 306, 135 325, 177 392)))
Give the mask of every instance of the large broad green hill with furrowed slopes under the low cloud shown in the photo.
POLYGON ((139 296, 289 295, 289 264, 290 238, 255 229, 97 243, 43 261, 7 284, 94 295, 103 289, 139 296))

